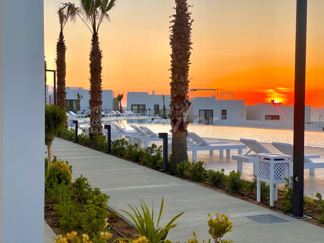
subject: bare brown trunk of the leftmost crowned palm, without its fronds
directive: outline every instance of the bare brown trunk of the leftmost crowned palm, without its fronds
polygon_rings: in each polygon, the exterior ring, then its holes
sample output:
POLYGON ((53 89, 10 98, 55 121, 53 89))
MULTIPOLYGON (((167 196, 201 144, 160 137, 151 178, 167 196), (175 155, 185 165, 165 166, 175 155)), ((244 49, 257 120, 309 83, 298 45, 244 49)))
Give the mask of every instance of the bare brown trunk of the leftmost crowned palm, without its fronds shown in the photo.
POLYGON ((66 74, 66 62, 65 62, 66 46, 64 41, 63 31, 60 31, 59 39, 56 43, 56 104, 66 110, 66 92, 65 92, 65 74, 66 74))

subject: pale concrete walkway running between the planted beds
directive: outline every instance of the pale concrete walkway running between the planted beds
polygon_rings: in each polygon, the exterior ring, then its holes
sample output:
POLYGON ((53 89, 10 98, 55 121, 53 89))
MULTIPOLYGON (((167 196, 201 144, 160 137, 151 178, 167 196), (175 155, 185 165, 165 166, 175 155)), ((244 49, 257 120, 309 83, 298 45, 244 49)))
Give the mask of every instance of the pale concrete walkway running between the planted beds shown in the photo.
POLYGON ((185 212, 176 221, 181 230, 169 233, 169 239, 174 242, 187 242, 192 230, 196 231, 200 240, 209 238, 207 214, 216 212, 230 214, 234 227, 225 239, 230 238, 234 242, 323 242, 324 228, 81 145, 56 138, 52 154, 70 162, 73 179, 82 174, 89 179, 92 187, 98 187, 110 195, 109 206, 116 207, 115 210, 128 219, 126 214, 119 211, 128 210, 127 203, 139 206, 140 198, 148 205, 153 201, 157 216, 163 196, 162 224, 176 214, 185 212), (244 217, 260 214, 276 215, 288 222, 261 224, 244 217))

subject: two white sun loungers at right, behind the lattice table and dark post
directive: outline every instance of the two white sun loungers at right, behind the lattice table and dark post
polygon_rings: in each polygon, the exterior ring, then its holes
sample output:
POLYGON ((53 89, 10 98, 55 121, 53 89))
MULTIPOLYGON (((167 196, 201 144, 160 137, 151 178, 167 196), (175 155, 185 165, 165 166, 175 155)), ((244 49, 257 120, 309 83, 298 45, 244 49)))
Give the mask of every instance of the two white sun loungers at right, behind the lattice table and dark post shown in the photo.
MULTIPOLYGON (((238 153, 238 155, 232 155, 232 159, 237 161, 237 171, 243 171, 243 162, 253 163, 253 173, 254 175, 256 175, 256 164, 258 163, 257 154, 270 154, 272 152, 256 140, 241 138, 240 141, 244 145, 246 145, 250 150, 245 154, 238 153), (251 152, 254 152, 254 154, 251 152)), ((277 142, 272 142, 272 145, 275 148, 277 148, 281 153, 293 156, 293 145, 277 142)), ((324 158, 320 158, 319 155, 305 153, 304 169, 309 169, 309 174, 314 174, 315 168, 324 168, 324 158)))

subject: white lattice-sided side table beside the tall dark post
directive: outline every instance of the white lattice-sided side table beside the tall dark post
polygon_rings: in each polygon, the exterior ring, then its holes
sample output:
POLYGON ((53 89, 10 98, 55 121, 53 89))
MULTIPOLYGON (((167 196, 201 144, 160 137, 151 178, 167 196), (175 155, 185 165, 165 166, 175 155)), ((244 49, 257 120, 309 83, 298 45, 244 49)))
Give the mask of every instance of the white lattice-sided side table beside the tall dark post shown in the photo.
POLYGON ((292 156, 284 154, 257 154, 257 202, 261 200, 261 181, 270 184, 270 206, 278 200, 278 183, 292 176, 292 156))

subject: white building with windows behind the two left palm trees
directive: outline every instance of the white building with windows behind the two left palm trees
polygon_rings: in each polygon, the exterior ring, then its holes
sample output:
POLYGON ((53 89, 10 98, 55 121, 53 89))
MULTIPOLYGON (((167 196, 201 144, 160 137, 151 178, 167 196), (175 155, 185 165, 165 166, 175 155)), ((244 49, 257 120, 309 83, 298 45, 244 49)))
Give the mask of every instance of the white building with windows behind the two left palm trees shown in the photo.
MULTIPOLYGON (((81 110, 88 110, 90 94, 89 89, 85 89, 83 87, 65 87, 66 92, 66 110, 67 111, 76 111, 77 107, 77 93, 79 93, 83 98, 80 100, 81 110)), ((109 89, 102 90, 102 110, 117 110, 116 104, 114 107, 114 102, 116 102, 116 98, 113 95, 114 92, 109 89)), ((47 104, 54 104, 53 98, 53 86, 46 86, 46 101, 47 104)))

